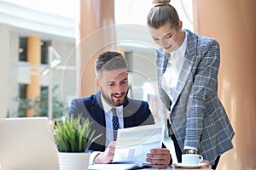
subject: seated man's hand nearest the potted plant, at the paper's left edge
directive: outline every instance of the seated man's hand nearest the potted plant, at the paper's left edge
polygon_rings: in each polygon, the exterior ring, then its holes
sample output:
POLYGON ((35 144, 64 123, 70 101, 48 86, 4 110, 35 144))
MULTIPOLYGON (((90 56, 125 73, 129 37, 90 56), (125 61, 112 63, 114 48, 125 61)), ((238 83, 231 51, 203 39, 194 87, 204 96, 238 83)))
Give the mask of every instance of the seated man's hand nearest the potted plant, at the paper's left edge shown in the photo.
POLYGON ((108 148, 104 151, 99 153, 95 158, 94 162, 95 163, 110 163, 113 160, 113 154, 114 154, 114 149, 115 149, 115 141, 112 141, 109 145, 108 148))

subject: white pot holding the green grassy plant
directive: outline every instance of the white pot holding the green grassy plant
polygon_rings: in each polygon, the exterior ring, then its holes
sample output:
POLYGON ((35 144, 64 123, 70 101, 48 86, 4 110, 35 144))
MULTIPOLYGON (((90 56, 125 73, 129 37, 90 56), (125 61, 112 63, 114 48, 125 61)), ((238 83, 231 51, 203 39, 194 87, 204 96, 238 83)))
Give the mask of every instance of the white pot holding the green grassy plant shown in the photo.
POLYGON ((88 170, 90 153, 58 152, 60 170, 88 170))

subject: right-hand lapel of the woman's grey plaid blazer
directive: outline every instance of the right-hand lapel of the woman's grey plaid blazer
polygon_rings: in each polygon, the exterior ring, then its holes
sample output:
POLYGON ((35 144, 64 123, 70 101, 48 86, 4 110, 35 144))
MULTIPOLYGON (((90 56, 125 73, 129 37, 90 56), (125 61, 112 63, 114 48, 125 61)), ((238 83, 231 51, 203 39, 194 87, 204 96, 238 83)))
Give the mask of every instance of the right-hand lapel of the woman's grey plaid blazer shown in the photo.
POLYGON ((184 56, 182 71, 177 80, 177 86, 176 86, 175 94, 173 96, 173 105, 171 106, 171 110, 176 104, 178 96, 182 93, 183 88, 189 79, 189 74, 192 70, 192 67, 195 63, 195 58, 196 58, 197 37, 195 37, 195 35, 192 34, 192 32, 188 30, 185 30, 185 31, 188 34, 187 49, 184 56))

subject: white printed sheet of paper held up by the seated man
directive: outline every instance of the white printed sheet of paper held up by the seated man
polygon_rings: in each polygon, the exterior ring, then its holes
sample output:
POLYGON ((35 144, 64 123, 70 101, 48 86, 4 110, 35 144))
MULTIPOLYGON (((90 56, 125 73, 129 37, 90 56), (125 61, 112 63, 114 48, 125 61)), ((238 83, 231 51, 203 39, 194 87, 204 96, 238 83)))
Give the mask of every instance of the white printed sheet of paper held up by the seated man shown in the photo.
POLYGON ((162 124, 129 127, 118 130, 113 162, 143 163, 153 148, 161 148, 162 124))

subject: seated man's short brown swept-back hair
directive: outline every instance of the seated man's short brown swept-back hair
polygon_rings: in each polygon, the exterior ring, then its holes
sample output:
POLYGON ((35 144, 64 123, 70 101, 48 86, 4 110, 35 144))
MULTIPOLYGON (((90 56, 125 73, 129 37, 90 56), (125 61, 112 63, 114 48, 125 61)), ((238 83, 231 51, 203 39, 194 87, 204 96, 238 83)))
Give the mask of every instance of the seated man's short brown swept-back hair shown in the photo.
POLYGON ((107 51, 99 55, 95 62, 96 77, 102 71, 113 71, 117 69, 128 69, 127 62, 122 54, 107 51))

